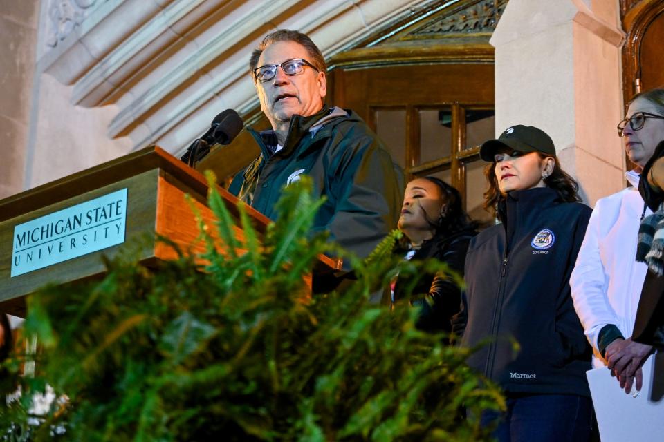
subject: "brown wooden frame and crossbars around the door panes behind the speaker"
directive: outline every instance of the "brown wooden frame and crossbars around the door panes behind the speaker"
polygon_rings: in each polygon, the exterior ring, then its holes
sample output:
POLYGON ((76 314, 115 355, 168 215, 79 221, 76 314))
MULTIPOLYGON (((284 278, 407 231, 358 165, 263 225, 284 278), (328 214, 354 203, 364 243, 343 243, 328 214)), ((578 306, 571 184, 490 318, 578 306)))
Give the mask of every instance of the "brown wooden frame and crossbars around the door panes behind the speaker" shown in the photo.
MULTIPOLYGON (((374 52, 378 54, 379 52, 374 52)), ((462 56, 458 57, 463 59, 462 56)), ((347 60, 347 59, 346 59, 347 60)), ((436 64, 421 61, 392 60, 394 64, 344 64, 333 70, 329 104, 353 108, 377 131, 376 112, 383 109, 405 110, 406 179, 450 169, 450 184, 459 190, 463 206, 468 200, 466 163, 477 160, 479 148, 466 146, 467 110, 490 110, 495 106, 492 63, 436 64), (383 89, 385 88, 385 93, 383 89), (420 164, 420 111, 447 109, 452 114, 450 154, 420 164)))

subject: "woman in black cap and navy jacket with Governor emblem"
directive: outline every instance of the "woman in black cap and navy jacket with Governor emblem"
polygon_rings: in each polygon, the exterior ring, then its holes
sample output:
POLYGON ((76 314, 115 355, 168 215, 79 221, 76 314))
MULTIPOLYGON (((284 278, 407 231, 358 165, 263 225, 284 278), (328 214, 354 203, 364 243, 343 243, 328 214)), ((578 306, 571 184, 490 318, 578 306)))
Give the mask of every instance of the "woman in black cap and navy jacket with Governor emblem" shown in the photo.
POLYGON ((482 423, 498 422, 499 441, 587 441, 591 352, 569 276, 591 209, 538 128, 510 127, 480 155, 492 163, 485 208, 501 224, 470 242, 453 330, 462 345, 486 344, 468 363, 506 392, 506 412, 487 411, 482 423))

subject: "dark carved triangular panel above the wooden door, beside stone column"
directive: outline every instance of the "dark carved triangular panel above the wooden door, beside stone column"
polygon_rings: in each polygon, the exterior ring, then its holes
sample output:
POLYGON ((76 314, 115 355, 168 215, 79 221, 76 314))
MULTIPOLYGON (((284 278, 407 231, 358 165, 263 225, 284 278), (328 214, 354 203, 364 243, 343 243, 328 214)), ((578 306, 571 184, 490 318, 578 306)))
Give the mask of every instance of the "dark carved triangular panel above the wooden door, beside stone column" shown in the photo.
POLYGON ((495 30, 500 15, 508 0, 483 0, 465 8, 443 15, 413 30, 414 37, 430 37, 432 35, 468 35, 490 33, 495 30))

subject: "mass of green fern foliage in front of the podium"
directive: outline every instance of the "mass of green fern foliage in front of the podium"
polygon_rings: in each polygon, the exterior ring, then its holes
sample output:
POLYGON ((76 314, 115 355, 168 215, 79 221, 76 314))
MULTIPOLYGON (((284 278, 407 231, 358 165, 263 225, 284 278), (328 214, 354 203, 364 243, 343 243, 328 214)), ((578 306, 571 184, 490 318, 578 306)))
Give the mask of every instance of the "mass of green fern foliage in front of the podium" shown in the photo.
POLYGON ((412 309, 369 302, 396 271, 418 273, 391 256, 398 233, 353 261, 356 282, 306 298, 317 256, 342 253, 309 235, 321 204, 311 182, 284 190, 262 236, 241 204, 236 221, 216 191, 209 202, 219 221, 201 222, 205 265, 183 254, 149 269, 127 248, 103 280, 30 297, 24 336, 40 350, 6 363, 6 390, 21 396, 1 411, 4 440, 486 439, 462 407, 501 396, 466 367, 470 350, 416 330, 412 309), (16 376, 30 361, 34 376, 16 376), (57 398, 35 419, 47 385, 57 398))

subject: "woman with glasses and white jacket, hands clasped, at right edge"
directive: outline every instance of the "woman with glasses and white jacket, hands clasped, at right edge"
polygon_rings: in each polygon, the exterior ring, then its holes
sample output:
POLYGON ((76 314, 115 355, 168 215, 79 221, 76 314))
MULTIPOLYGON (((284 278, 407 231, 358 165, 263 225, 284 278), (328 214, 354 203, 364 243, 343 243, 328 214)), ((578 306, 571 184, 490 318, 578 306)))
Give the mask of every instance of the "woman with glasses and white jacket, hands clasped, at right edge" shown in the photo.
MULTIPOLYGON (((632 341, 634 319, 647 265, 636 262, 638 227, 645 205, 638 193, 640 170, 664 140, 664 89, 636 95, 618 124, 629 160, 632 187, 596 203, 570 278, 574 307, 593 346, 593 366, 608 366, 620 387, 642 384, 640 366, 652 351, 632 341)), ((650 213, 647 209, 647 213, 650 213)))

